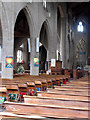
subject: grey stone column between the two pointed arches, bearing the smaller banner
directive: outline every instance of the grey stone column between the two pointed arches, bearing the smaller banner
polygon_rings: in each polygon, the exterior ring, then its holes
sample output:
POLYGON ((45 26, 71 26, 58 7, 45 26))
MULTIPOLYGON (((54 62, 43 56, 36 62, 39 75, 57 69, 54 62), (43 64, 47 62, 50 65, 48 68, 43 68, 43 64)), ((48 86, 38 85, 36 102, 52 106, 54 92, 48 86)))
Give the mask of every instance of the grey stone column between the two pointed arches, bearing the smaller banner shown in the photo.
POLYGON ((39 75, 39 66, 34 66, 34 58, 39 59, 39 53, 36 53, 36 37, 31 38, 31 55, 30 55, 30 75, 39 75))

